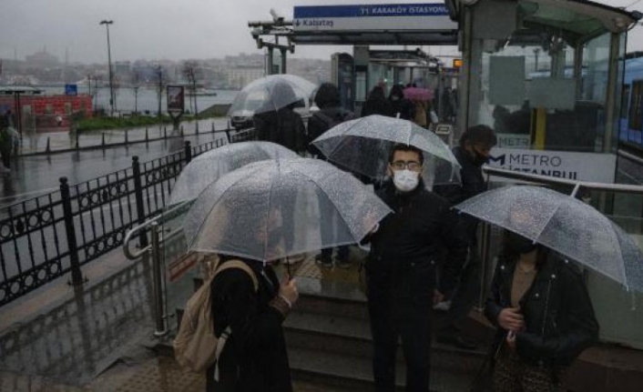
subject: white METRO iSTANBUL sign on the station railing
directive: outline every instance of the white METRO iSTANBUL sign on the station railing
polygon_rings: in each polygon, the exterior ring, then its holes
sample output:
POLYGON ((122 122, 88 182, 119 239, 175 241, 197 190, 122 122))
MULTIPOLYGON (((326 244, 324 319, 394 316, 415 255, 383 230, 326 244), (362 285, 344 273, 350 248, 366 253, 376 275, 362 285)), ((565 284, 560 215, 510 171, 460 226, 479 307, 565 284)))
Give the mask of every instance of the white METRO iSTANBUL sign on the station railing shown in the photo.
MULTIPOLYGON (((489 166, 532 175, 613 184, 616 176, 617 156, 601 153, 494 147, 489 157, 489 166)), ((494 177, 494 179, 514 181, 505 178, 494 177)))

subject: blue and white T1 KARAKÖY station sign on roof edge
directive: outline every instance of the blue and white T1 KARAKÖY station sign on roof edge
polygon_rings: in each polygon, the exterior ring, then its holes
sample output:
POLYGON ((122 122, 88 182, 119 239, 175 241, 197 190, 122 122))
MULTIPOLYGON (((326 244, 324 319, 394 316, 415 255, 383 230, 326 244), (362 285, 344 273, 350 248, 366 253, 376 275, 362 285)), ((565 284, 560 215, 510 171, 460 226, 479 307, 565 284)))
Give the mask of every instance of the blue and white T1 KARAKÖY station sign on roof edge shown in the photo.
POLYGON ((457 30, 442 4, 295 6, 295 31, 457 30))

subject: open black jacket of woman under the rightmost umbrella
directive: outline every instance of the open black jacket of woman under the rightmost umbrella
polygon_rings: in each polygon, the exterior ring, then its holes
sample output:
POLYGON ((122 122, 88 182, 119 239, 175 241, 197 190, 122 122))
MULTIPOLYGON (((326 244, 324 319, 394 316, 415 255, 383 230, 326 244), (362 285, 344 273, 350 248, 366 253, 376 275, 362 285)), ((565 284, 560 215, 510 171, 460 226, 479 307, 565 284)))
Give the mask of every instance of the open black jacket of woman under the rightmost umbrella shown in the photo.
MULTIPOLYGON (((502 309, 511 307, 515 266, 515 261, 498 261, 486 302, 485 316, 498 327, 495 352, 506 337, 497 320, 502 309)), ((515 347, 518 355, 533 365, 566 367, 597 341, 598 323, 583 276, 553 253, 538 267, 520 309, 526 330, 516 334, 515 347)))

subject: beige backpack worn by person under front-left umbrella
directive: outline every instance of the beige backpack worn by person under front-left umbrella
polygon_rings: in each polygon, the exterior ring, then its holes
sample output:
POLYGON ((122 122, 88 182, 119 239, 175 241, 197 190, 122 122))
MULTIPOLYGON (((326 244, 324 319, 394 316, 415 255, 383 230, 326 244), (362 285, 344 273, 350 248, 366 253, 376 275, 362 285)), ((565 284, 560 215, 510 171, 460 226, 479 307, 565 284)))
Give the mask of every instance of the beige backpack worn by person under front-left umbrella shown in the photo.
MULTIPOLYGON (((174 339, 174 356, 181 367, 187 367, 194 372, 200 373, 219 359, 231 331, 229 326, 219 338, 214 336, 210 285, 215 276, 219 275, 221 271, 231 268, 239 268, 245 271, 252 279, 254 291, 257 292, 259 288, 257 276, 246 263, 240 260, 230 260, 220 267, 214 266, 212 268, 214 273, 189 298, 181 319, 179 333, 174 339)), ((214 379, 219 379, 219 366, 215 367, 214 379)))

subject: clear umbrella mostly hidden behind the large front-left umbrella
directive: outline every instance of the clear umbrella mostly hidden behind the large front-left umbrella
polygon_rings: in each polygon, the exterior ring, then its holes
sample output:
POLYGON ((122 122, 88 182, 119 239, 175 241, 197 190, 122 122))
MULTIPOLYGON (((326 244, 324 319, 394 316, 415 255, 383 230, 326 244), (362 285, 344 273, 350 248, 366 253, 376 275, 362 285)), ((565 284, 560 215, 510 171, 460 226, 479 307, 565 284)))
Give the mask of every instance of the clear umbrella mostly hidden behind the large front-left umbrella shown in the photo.
POLYGON ((195 199, 220 176, 250 163, 279 158, 295 158, 297 154, 270 142, 242 142, 215 148, 197 156, 185 166, 172 187, 169 205, 195 199))

